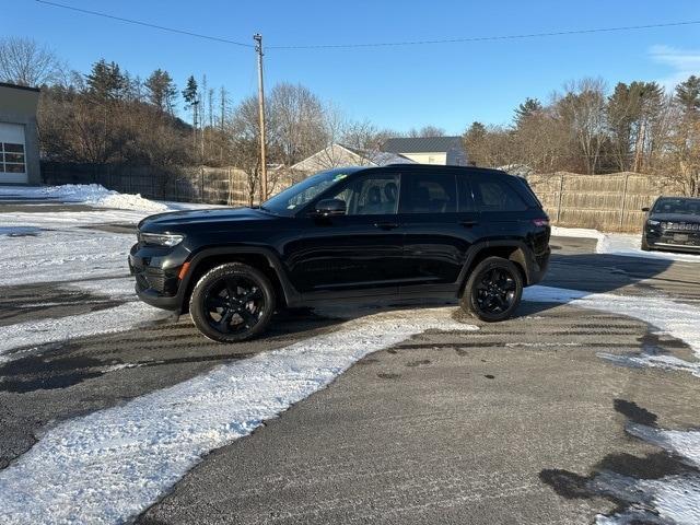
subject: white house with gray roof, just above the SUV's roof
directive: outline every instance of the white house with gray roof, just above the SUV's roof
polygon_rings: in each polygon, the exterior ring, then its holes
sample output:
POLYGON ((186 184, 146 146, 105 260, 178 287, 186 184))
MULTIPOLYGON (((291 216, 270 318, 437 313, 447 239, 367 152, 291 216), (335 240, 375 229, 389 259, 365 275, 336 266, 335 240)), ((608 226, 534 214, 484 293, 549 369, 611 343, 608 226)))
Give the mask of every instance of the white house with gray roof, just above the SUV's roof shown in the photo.
POLYGON ((467 165, 467 151, 462 137, 397 137, 384 141, 382 151, 420 164, 467 165))

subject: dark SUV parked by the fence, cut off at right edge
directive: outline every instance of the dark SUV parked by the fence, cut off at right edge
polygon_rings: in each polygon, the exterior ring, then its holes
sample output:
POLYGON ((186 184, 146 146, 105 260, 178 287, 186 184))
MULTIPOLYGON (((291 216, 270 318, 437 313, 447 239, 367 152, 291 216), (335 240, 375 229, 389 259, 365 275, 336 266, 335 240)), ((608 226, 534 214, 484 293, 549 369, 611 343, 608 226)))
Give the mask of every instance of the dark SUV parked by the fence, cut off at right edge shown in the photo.
POLYGON ((700 253, 700 198, 660 197, 646 211, 642 249, 700 253))

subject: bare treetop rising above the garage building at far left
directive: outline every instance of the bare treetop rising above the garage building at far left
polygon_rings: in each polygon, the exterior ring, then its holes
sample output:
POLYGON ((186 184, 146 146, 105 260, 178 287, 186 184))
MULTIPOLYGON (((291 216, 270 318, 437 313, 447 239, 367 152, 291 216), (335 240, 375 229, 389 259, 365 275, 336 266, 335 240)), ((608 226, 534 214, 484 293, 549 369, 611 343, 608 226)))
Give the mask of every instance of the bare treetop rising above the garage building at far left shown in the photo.
POLYGON ((0 80, 19 85, 43 85, 57 81, 67 70, 54 51, 31 38, 0 39, 0 80))

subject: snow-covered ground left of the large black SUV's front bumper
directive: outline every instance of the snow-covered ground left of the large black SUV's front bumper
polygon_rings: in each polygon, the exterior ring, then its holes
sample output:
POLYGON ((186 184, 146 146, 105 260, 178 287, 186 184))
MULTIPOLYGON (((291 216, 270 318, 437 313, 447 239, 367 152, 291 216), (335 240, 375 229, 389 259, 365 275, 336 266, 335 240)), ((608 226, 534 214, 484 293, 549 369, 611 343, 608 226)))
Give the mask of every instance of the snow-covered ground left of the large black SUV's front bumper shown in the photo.
MULTIPOLYGON (((0 327, 0 355, 18 347, 38 346, 95 334, 127 330, 170 314, 137 301, 127 257, 132 234, 93 230, 98 224, 136 225, 147 215, 206 205, 155 202, 138 195, 110 191, 98 185, 0 187, 0 200, 66 203, 66 211, 1 213, 0 287, 62 283, 121 304, 59 319, 38 319, 0 327), (10 200, 12 199, 12 200, 10 200), (89 205, 94 210, 71 209, 89 205)), ((2 358, 0 357, 0 360, 2 358)))

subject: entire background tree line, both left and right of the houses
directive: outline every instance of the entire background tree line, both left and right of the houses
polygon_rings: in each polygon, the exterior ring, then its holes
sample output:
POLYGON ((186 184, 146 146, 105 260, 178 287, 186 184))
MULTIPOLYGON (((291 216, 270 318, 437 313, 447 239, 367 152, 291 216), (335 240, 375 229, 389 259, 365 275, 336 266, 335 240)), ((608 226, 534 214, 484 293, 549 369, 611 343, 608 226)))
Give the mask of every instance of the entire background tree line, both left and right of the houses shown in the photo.
MULTIPOLYGON (((225 86, 209 85, 206 75, 189 75, 178 86, 164 69, 140 79, 104 59, 83 74, 45 46, 13 37, 0 39, 0 80, 43 86, 44 159, 236 166, 247 174, 250 194, 257 191, 256 96, 232 101, 225 86)), ((272 165, 292 166, 332 142, 377 150, 388 137, 445 135, 433 126, 398 132, 348 118, 300 84, 279 83, 266 100, 272 165)), ((619 82, 611 91, 599 79, 570 82, 546 103, 526 98, 510 125, 472 122, 464 141, 476 165, 537 173, 633 171, 674 179, 687 195, 700 195, 700 78, 670 92, 645 81, 619 82)))

